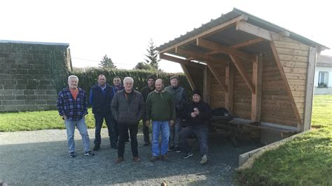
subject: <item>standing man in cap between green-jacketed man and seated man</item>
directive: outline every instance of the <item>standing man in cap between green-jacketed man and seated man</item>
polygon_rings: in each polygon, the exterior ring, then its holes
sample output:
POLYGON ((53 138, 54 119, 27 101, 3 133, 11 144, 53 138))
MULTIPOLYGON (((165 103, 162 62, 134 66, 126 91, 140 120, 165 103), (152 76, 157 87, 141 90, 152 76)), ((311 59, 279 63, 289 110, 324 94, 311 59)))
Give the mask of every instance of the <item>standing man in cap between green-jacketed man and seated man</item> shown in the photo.
POLYGON ((181 131, 181 115, 187 101, 186 90, 179 86, 179 77, 177 76, 172 76, 170 78, 170 84, 170 86, 165 87, 165 90, 174 96, 177 119, 175 120, 174 125, 170 127, 170 145, 168 150, 181 152, 179 147, 179 132, 181 131))

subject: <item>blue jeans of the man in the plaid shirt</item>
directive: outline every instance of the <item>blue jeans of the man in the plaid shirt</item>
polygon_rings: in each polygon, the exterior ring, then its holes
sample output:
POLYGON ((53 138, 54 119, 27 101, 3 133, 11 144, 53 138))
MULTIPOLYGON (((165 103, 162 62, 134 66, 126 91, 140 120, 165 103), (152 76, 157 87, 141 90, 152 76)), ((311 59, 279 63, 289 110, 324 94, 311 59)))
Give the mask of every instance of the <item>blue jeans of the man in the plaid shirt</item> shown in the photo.
POLYGON ((75 141, 74 141, 75 126, 77 127, 78 131, 82 136, 84 152, 89 151, 90 138, 88 135, 88 129, 85 124, 85 117, 83 117, 81 120, 78 121, 64 120, 64 124, 66 125, 67 129, 68 151, 75 152, 75 141))

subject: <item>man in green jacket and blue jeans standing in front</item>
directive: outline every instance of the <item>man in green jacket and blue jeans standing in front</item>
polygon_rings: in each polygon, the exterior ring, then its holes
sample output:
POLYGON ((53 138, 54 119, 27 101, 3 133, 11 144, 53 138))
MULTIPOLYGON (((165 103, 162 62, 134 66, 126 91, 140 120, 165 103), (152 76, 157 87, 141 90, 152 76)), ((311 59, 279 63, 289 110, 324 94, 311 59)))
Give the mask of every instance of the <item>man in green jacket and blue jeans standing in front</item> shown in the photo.
POLYGON ((151 162, 159 159, 159 134, 161 131, 161 157, 169 162, 167 155, 168 142, 170 140, 170 126, 176 119, 174 97, 169 92, 163 90, 161 79, 155 80, 155 90, 148 94, 146 99, 146 126, 152 120, 152 157, 151 162))

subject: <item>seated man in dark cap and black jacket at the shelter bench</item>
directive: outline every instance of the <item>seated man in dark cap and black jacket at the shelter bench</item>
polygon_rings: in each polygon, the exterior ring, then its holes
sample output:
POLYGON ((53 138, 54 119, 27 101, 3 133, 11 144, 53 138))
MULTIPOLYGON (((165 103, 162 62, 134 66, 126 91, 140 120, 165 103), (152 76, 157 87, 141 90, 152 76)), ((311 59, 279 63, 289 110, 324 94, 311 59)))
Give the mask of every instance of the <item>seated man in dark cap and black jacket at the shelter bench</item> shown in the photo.
POLYGON ((184 159, 192 157, 193 153, 188 146, 188 136, 195 135, 200 143, 200 164, 205 164, 208 161, 207 152, 207 132, 209 119, 212 117, 212 110, 207 103, 201 100, 202 96, 200 90, 193 90, 193 101, 188 103, 184 110, 184 119, 188 126, 183 128, 180 132, 181 148, 185 152, 184 159))

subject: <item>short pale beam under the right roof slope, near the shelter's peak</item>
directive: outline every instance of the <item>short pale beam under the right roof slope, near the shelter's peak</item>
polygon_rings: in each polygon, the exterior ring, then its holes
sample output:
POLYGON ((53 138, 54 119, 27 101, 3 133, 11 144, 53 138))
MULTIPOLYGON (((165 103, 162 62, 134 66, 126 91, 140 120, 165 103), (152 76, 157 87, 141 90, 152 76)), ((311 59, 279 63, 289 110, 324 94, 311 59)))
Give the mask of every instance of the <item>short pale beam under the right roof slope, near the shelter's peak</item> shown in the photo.
POLYGON ((247 22, 239 21, 236 23, 236 30, 241 30, 247 32, 248 34, 258 36, 259 38, 266 39, 268 41, 272 41, 270 31, 262 29, 261 27, 256 27, 253 24, 249 24, 247 22))

